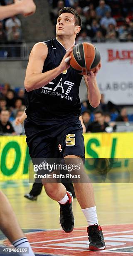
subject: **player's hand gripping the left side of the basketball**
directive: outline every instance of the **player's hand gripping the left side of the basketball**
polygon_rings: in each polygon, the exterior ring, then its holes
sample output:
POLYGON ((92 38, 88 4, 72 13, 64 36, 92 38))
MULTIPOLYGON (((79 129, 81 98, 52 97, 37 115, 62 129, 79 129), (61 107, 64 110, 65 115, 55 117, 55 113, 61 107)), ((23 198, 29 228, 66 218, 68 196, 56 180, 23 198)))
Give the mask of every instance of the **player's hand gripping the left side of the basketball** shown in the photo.
POLYGON ((60 72, 63 72, 66 69, 69 69, 70 64, 69 60, 71 59, 70 53, 73 51, 74 45, 69 48, 68 51, 66 51, 66 54, 64 55, 61 64, 59 65, 60 72))

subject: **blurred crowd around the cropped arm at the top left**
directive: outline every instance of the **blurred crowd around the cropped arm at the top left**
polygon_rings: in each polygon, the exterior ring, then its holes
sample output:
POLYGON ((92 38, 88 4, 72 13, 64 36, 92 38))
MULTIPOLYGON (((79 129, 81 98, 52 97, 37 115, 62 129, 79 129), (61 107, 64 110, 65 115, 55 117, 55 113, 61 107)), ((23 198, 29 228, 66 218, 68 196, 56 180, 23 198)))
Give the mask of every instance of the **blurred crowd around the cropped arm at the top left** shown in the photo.
MULTIPOLYGON (((0 0, 0 5, 10 5, 13 0, 0 0)), ((22 43, 21 21, 17 16, 0 20, 0 44, 22 43)))

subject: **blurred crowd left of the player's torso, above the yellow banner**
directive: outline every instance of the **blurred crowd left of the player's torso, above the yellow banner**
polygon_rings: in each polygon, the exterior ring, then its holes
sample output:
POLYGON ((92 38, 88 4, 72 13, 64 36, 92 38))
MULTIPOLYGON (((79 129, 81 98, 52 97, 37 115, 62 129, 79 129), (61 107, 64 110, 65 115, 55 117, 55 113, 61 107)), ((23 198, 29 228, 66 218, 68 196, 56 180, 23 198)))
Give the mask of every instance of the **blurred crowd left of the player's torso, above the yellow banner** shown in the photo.
POLYGON ((25 91, 12 90, 10 84, 0 85, 0 135, 25 134, 24 123, 16 123, 25 111, 25 91))

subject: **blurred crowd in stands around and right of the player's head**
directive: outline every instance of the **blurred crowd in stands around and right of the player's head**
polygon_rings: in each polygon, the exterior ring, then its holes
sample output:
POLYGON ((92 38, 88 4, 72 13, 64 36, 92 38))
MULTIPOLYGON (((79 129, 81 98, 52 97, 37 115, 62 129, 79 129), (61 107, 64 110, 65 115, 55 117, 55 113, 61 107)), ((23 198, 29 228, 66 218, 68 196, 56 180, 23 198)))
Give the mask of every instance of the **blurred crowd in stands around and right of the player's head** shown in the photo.
POLYGON ((52 23, 64 6, 81 16, 82 28, 76 43, 133 41, 133 0, 49 0, 52 23))

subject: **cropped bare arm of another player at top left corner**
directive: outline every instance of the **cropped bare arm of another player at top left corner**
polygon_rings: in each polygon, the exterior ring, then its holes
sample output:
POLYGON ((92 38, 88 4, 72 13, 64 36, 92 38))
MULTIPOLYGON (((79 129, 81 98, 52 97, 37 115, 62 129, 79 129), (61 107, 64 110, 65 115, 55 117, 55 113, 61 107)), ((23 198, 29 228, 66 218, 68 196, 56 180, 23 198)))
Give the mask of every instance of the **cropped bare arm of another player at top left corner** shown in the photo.
POLYGON ((24 16, 35 13, 36 5, 33 0, 15 0, 12 5, 0 6, 0 20, 22 14, 24 16))

